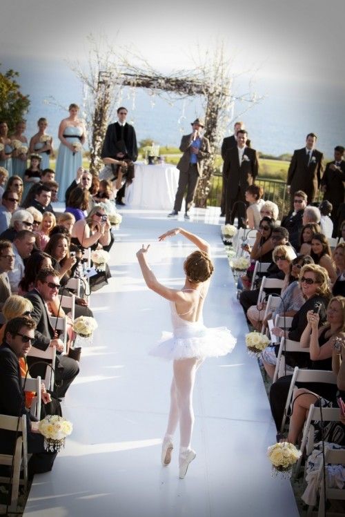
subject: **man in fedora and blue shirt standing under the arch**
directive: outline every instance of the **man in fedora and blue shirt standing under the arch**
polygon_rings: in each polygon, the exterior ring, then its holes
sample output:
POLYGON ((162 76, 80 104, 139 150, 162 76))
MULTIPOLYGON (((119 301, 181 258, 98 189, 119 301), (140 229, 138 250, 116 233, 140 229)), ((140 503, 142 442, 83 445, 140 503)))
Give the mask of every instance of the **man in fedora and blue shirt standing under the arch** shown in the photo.
POLYGON ((205 126, 204 121, 202 119, 195 119, 191 124, 193 132, 190 135, 184 135, 179 146, 179 150, 184 154, 177 164, 179 169, 179 186, 175 196, 174 209, 168 214, 168 217, 174 217, 181 210, 182 200, 187 188, 184 217, 189 219, 188 210, 192 206, 199 177, 202 176, 203 162, 210 155, 210 142, 201 135, 201 130, 205 126))

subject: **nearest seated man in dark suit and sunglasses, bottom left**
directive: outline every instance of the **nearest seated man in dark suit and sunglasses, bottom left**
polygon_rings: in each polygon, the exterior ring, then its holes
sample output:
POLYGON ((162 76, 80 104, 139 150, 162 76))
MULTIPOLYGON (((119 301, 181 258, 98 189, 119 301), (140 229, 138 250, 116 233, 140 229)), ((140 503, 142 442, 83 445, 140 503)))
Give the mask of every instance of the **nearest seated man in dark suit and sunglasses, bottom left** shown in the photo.
MULTIPOLYGON (((44 438, 34 427, 36 420, 25 409, 25 398, 21 387, 21 375, 18 367, 19 358, 25 358, 31 348, 35 335, 35 323, 28 316, 14 318, 6 324, 3 344, 0 347, 0 413, 2 415, 26 415, 28 453, 32 454, 28 469, 29 474, 48 472, 57 453, 47 452, 44 438)), ((0 430, 0 452, 12 454, 14 433, 0 430)))

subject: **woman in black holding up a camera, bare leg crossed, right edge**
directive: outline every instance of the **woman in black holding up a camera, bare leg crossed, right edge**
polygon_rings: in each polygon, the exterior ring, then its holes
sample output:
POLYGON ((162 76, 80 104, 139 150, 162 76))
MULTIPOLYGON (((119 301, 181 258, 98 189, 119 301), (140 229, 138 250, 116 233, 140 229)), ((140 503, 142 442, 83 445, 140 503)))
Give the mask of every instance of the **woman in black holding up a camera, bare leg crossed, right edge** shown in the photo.
MULTIPOLYGON (((301 337, 301 346, 310 347, 311 360, 315 369, 333 370, 337 375, 337 384, 325 384, 320 382, 313 391, 305 388, 297 389, 293 401, 293 413, 290 417, 290 427, 287 441, 297 444, 302 433, 306 416, 311 404, 319 405, 321 398, 322 407, 337 407, 338 396, 345 400, 345 298, 337 296, 332 298, 327 308, 327 322, 319 328, 319 315, 313 311, 307 313, 308 324, 301 337), (342 339, 340 349, 334 347, 335 338, 342 339), (324 367, 320 367, 324 362, 324 367)), ((342 444, 345 445, 345 444, 342 444)))

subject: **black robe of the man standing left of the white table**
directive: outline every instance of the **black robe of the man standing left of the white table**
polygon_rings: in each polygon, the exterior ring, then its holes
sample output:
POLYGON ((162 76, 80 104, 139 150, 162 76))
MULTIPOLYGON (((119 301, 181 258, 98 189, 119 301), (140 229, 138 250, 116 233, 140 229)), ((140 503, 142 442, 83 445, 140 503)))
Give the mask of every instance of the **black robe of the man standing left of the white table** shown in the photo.
POLYGON ((116 158, 117 153, 124 153, 125 158, 135 162, 138 157, 137 136, 135 128, 130 124, 124 126, 124 138, 121 139, 121 126, 119 122, 109 124, 106 137, 101 150, 102 158, 116 158))

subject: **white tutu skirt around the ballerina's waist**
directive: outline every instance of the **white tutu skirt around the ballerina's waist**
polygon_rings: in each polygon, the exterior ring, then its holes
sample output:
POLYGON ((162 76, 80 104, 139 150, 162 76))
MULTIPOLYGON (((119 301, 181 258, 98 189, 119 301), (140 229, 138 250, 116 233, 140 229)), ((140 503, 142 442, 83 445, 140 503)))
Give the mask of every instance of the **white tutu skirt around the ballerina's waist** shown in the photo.
MULTIPOLYGON (((188 322, 186 322, 188 323, 188 322)), ((236 339, 226 326, 208 329, 200 323, 190 323, 189 329, 178 333, 164 333, 150 355, 166 359, 219 357, 233 351, 236 339)))

